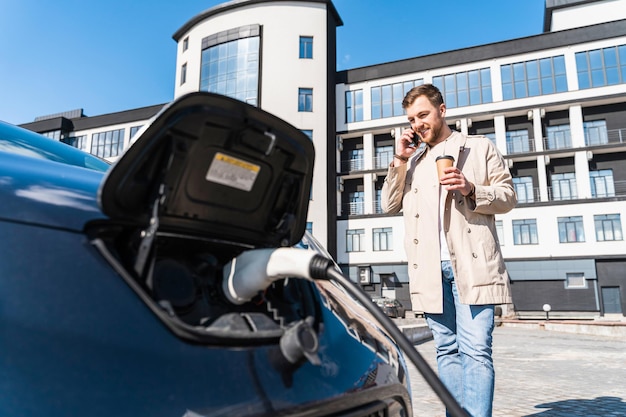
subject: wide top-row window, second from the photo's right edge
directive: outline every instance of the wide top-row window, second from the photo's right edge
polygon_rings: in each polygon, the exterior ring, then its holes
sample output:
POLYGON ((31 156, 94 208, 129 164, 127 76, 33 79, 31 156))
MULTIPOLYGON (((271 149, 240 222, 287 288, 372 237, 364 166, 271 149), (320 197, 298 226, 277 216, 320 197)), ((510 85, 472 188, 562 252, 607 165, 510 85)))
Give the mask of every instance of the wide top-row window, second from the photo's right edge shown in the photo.
POLYGON ((567 91, 563 55, 502 65, 500 73, 504 100, 567 91))

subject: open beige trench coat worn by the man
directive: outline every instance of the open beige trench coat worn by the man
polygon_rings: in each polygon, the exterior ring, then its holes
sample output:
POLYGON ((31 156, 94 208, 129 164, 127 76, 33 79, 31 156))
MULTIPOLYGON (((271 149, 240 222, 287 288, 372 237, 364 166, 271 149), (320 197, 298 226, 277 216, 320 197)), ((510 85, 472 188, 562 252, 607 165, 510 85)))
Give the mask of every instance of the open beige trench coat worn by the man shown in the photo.
MULTIPOLYGON (((467 180, 476 186, 474 198, 451 191, 445 202, 443 227, 460 300, 463 304, 512 303, 494 218, 517 204, 507 164, 484 136, 453 132, 446 150, 454 156, 467 180)), ((427 147, 423 154, 409 158, 408 163, 391 166, 381 203, 387 213, 403 212, 413 310, 439 314, 443 312, 440 185, 434 159, 427 147)))

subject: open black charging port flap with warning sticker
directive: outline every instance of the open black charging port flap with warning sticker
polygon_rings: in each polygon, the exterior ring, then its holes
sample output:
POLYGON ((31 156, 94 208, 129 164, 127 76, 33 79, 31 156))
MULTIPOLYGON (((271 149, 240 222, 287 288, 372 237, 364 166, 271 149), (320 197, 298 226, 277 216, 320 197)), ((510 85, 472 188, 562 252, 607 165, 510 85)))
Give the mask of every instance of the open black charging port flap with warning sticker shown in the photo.
POLYGON ((198 92, 166 106, 137 136, 98 191, 110 218, 255 247, 302 237, 314 148, 300 130, 198 92))

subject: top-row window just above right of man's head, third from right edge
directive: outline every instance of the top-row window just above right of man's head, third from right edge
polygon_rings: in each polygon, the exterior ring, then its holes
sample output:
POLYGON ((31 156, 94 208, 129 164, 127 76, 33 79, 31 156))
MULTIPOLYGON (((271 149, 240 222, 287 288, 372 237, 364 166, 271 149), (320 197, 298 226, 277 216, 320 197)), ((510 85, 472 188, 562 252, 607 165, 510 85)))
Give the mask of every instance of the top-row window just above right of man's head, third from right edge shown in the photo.
POLYGON ((433 84, 441 91, 447 108, 493 101, 489 68, 433 77, 433 84))

